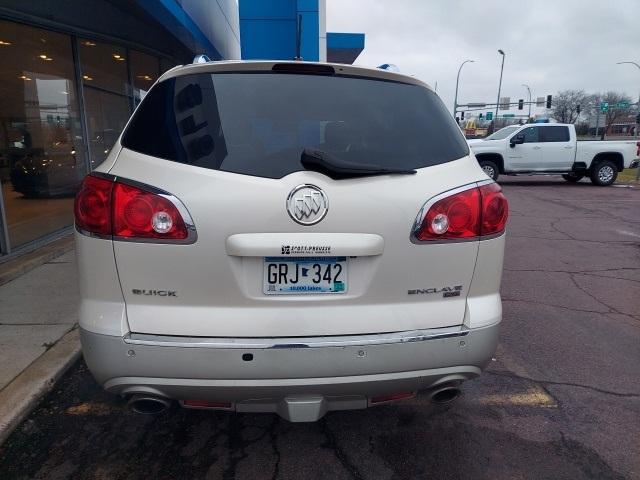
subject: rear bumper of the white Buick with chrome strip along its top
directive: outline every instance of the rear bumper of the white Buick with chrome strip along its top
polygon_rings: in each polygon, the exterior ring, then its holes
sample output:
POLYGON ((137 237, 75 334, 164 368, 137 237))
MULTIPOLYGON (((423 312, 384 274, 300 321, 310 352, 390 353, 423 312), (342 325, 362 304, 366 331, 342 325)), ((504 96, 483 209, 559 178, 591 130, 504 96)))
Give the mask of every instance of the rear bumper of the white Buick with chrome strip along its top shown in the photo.
MULTIPOLYGON (((365 408, 368 399, 478 376, 499 323, 345 337, 220 339, 81 330, 89 369, 110 392, 231 402, 236 411, 296 418, 295 405, 365 408), (293 408, 291 405, 294 405, 293 408)), ((313 416, 313 415, 312 415, 313 416)))

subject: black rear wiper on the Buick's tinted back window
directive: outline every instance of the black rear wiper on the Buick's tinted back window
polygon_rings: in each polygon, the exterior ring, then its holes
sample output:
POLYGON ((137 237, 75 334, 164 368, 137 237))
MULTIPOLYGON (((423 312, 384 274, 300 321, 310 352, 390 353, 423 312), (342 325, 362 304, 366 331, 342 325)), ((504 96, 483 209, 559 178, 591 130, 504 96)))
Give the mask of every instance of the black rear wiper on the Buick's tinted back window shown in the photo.
POLYGON ((373 175, 412 175, 415 170, 406 168, 382 167, 368 163, 347 162, 334 157, 330 153, 313 148, 305 148, 300 156, 300 163, 307 170, 324 173, 334 180, 344 178, 369 177, 373 175))

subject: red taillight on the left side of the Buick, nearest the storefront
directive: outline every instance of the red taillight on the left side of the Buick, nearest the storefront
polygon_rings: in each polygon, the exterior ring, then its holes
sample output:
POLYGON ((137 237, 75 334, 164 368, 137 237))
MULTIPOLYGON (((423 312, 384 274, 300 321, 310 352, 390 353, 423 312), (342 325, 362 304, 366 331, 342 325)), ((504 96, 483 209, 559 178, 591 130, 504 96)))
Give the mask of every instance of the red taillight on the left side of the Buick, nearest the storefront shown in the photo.
POLYGON ((190 231, 176 206, 179 201, 170 198, 151 187, 89 175, 76 196, 76 226, 81 232, 114 239, 188 240, 190 231))

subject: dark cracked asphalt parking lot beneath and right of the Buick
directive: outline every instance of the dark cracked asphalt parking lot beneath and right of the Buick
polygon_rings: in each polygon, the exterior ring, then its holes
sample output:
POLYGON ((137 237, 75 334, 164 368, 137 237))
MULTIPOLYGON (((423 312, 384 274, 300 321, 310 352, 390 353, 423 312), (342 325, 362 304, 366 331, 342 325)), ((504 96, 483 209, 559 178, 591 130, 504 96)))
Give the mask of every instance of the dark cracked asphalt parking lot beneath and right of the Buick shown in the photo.
POLYGON ((140 416, 79 362, 0 447, 0 478, 640 478, 640 188, 502 180, 501 341, 448 411, 140 416))

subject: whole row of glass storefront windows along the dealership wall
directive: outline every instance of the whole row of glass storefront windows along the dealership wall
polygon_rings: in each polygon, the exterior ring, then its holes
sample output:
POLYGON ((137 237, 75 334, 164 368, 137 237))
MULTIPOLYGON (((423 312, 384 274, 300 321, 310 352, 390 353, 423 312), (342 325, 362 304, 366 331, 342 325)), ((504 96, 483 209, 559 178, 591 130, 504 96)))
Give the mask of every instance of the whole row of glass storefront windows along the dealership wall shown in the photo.
POLYGON ((7 218, 0 226, 11 250, 73 225, 82 178, 104 161, 133 106, 175 64, 0 20, 0 198, 7 218))

